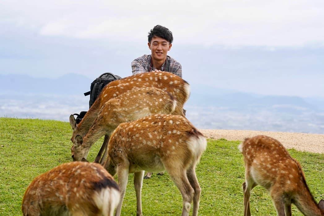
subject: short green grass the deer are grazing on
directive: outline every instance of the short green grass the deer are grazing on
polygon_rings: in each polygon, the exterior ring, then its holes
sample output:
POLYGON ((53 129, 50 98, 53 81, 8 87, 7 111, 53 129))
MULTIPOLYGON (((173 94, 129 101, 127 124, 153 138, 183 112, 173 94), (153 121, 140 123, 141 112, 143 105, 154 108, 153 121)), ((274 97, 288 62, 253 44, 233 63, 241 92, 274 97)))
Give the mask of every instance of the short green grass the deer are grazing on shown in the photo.
MULTIPOLYGON (((69 123, 0 118, 0 215, 21 215, 21 200, 32 179, 49 169, 72 160, 69 123)), ((91 149, 94 157, 102 139, 91 149)), ((242 215, 244 167, 238 141, 208 140, 196 172, 202 187, 199 215, 242 215)), ((289 150, 302 165, 315 200, 324 199, 324 155, 289 150)), ((116 179, 118 179, 116 177, 116 179)), ((182 197, 168 174, 144 179, 144 215, 180 215, 182 197)), ((252 190, 252 215, 275 215, 268 193, 252 190)), ((136 215, 133 174, 123 202, 122 215, 136 215)), ((293 206, 293 215, 301 215, 293 206)))

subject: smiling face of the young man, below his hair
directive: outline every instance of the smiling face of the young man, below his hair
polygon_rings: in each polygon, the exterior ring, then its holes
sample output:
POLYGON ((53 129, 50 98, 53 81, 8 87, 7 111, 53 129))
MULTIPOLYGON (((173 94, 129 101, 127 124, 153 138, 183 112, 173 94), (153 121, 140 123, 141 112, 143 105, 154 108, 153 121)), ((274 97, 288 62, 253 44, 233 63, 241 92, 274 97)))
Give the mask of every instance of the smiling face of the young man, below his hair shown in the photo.
POLYGON ((152 38, 151 43, 149 42, 147 45, 151 50, 152 59, 155 60, 165 60, 172 46, 166 39, 155 36, 152 38))

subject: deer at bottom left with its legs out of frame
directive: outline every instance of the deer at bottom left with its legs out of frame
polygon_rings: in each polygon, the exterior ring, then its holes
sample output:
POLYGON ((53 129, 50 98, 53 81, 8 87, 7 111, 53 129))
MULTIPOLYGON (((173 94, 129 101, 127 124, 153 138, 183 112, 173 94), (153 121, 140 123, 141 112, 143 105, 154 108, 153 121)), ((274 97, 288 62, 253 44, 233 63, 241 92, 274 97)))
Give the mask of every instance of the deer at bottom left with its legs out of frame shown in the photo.
POLYGON ((101 165, 69 162, 34 178, 21 209, 24 216, 112 216, 119 200, 117 183, 101 165))

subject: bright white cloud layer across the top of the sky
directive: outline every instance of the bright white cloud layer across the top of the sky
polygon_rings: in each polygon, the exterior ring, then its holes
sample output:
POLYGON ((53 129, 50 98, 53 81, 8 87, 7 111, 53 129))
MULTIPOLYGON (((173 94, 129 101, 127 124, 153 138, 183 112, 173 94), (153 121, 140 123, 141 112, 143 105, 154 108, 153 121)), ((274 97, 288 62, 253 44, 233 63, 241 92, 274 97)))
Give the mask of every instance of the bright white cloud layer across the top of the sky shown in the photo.
MULTIPOLYGON (((2 22, 44 36, 139 41, 156 24, 178 44, 322 44, 322 1, 6 1, 2 22)), ((1 24, 1 22, 0 22, 1 24)))

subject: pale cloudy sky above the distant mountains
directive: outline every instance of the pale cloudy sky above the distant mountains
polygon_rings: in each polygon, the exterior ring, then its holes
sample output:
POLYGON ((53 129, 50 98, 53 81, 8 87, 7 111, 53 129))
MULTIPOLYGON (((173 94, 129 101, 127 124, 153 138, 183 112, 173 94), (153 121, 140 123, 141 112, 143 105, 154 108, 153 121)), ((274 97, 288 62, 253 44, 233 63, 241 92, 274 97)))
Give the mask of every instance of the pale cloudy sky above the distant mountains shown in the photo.
POLYGON ((324 97, 324 1, 1 1, 0 74, 131 75, 147 32, 192 86, 324 97))

